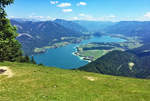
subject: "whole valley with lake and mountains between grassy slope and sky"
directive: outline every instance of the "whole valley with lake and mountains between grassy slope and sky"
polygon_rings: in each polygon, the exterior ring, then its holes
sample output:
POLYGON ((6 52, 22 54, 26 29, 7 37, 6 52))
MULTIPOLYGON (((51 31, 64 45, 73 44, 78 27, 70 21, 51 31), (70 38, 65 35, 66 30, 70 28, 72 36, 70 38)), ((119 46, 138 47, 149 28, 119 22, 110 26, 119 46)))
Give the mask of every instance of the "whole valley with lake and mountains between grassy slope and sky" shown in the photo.
POLYGON ((34 56, 38 64, 149 78, 149 21, 112 23, 56 19, 11 22, 18 28, 17 40, 21 42, 24 54, 34 56), (117 55, 121 55, 122 61, 117 55), (134 64, 132 70, 131 63, 134 64))

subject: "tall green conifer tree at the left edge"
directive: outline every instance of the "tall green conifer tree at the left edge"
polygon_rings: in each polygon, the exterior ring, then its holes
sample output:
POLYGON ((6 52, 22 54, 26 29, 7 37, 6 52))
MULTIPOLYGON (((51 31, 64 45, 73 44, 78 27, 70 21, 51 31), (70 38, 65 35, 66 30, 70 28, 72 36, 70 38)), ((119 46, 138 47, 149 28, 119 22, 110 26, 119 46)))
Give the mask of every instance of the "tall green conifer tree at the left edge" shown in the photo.
POLYGON ((0 0, 0 61, 16 61, 22 56, 21 45, 16 40, 16 27, 6 18, 5 7, 14 0, 0 0))

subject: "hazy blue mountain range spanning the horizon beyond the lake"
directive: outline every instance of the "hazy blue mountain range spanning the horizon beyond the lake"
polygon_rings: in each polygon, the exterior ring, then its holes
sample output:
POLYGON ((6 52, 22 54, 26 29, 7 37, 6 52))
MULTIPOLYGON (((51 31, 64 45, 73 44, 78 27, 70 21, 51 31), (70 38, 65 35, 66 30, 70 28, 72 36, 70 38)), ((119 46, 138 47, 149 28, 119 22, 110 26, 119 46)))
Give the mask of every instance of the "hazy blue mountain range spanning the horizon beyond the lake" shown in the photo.
POLYGON ((143 41, 149 41, 150 22, 121 21, 25 21, 24 19, 11 19, 11 23, 18 28, 18 40, 23 44, 25 53, 31 53, 33 48, 48 45, 53 39, 65 36, 82 36, 87 32, 105 32, 106 34, 122 34, 139 36, 143 41), (27 51, 27 50, 28 51, 27 51), (31 50, 29 50, 31 49, 31 50))

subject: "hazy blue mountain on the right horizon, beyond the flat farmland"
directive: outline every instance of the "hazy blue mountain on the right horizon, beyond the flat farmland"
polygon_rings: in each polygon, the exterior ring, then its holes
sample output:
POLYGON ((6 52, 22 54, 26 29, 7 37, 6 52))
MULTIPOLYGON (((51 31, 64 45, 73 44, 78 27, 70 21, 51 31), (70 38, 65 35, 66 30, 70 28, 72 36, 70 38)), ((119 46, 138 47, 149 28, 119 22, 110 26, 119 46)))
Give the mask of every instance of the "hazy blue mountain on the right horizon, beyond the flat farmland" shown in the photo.
POLYGON ((106 32, 109 34, 122 34, 125 36, 138 36, 144 42, 149 42, 150 38, 150 21, 121 21, 107 27, 106 32))

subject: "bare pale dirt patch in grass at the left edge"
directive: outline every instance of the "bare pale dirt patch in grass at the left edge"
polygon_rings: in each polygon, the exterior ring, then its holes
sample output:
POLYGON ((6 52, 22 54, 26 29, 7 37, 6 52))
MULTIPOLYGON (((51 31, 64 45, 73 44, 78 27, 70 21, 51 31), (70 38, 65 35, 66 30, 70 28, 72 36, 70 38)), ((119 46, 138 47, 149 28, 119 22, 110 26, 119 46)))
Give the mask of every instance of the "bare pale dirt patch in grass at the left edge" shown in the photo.
POLYGON ((0 67, 0 75, 6 75, 8 78, 11 78, 14 74, 7 66, 0 67))

